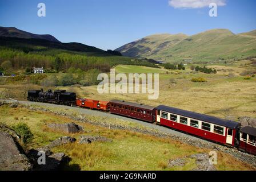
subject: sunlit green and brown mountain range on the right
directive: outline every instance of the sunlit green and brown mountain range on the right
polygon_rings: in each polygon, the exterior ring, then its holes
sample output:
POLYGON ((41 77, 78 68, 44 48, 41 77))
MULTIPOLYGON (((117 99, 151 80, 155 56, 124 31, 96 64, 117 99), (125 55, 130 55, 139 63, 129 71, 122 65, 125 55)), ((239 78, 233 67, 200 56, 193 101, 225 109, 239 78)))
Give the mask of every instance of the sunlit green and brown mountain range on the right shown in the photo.
POLYGON ((200 34, 158 34, 146 36, 115 49, 124 56, 147 57, 169 62, 180 60, 209 61, 256 55, 255 31, 234 34, 214 29, 200 34))

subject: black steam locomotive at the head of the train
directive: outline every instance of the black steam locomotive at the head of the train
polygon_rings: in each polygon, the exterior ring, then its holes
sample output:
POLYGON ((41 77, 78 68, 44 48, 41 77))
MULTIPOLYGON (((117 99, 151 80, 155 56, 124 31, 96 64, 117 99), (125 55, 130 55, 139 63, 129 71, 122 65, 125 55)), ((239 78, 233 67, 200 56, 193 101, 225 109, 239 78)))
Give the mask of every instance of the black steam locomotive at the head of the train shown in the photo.
POLYGON ((74 92, 66 92, 66 90, 49 89, 47 91, 29 90, 27 92, 27 100, 34 102, 49 102, 51 104, 74 106, 77 102, 77 96, 74 92))

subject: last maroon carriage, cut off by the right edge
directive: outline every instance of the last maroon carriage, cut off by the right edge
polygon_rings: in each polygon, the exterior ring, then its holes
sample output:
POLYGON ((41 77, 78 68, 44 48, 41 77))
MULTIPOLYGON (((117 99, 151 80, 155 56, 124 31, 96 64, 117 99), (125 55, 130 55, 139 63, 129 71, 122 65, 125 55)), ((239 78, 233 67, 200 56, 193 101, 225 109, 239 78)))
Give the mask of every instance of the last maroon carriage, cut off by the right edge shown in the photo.
POLYGON ((245 126, 240 130, 239 150, 256 155, 256 129, 245 126))

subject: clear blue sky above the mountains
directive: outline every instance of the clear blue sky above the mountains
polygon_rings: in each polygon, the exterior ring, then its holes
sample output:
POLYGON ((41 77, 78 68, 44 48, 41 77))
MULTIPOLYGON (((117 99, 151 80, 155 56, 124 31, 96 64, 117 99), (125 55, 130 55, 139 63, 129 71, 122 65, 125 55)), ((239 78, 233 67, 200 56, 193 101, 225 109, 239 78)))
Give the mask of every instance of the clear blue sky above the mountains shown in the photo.
POLYGON ((255 0, 0 0, 0 26, 34 34, 51 34, 61 42, 79 42, 102 49, 159 33, 197 34, 212 28, 234 33, 256 29, 255 0), (217 2, 218 16, 209 16, 202 2, 217 2), (38 3, 46 17, 38 17, 38 3), (191 2, 191 0, 189 1, 191 2))

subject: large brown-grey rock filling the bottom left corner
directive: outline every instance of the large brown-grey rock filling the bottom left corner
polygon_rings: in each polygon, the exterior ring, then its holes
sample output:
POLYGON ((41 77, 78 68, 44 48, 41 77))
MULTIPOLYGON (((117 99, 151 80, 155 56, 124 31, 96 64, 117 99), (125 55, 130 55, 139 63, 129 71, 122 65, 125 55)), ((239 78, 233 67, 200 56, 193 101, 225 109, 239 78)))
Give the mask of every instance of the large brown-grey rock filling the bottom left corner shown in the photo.
POLYGON ((31 168, 29 159, 19 152, 13 137, 0 131, 0 170, 28 171, 31 168))

